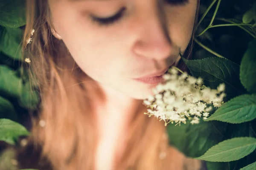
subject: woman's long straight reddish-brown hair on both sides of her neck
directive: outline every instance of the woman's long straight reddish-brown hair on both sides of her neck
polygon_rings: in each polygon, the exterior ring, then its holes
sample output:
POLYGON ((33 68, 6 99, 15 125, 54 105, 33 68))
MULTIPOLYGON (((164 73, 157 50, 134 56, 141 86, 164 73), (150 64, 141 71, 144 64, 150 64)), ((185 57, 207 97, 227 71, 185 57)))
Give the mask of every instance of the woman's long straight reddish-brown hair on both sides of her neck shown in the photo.
MULTIPOLYGON (((31 82, 41 94, 39 114, 32 122, 31 141, 42 148, 42 158, 47 158, 53 169, 92 170, 97 136, 90 108, 93 89, 87 86, 90 78, 76 65, 64 43, 52 35, 54 27, 47 0, 26 3, 24 54, 31 60, 31 82), (32 29, 35 29, 32 42, 27 45, 32 29)), ((189 57, 191 47, 192 40, 184 56, 189 57)), ((115 169, 183 170, 186 164, 191 170, 198 169, 198 161, 187 159, 168 146, 163 122, 148 118, 144 111, 134 115, 126 135, 128 144, 115 169), (162 151, 166 151, 165 159, 159 157, 162 151)))

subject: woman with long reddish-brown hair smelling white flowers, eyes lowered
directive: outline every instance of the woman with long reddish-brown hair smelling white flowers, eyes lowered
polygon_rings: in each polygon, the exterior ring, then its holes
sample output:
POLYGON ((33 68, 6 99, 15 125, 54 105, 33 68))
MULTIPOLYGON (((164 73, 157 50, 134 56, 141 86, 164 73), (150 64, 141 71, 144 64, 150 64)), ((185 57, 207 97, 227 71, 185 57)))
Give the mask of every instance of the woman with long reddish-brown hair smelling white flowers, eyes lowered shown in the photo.
POLYGON ((24 44, 41 93, 32 139, 54 169, 200 168, 169 147, 163 122, 144 115, 142 104, 156 76, 177 65, 179 53, 188 57, 198 5, 27 0, 24 44))

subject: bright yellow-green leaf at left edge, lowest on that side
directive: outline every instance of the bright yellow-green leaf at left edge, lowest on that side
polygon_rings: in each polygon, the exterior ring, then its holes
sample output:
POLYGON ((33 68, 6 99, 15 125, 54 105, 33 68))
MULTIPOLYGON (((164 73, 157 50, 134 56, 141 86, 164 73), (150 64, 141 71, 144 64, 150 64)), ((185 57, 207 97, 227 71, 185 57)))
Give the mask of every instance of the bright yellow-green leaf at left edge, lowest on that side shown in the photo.
POLYGON ((0 141, 15 144, 19 136, 29 135, 25 127, 9 119, 0 119, 0 141))

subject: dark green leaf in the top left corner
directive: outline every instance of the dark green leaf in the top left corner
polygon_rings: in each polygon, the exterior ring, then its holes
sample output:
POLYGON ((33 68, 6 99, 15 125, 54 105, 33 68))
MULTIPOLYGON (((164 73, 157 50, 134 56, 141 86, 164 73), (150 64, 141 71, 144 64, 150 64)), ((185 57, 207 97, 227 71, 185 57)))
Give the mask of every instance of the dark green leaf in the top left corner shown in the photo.
POLYGON ((25 0, 0 0, 0 25, 17 28, 26 24, 25 0))

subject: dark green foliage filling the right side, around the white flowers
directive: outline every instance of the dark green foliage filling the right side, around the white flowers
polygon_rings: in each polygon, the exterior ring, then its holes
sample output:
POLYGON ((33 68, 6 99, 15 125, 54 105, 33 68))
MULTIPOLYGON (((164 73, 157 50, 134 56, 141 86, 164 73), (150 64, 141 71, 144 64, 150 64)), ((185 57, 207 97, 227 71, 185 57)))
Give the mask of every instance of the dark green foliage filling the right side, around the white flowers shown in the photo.
POLYGON ((183 61, 205 85, 224 82, 226 103, 199 125, 169 125, 170 144, 207 161, 208 170, 255 170, 256 2, 202 0, 200 18, 211 3, 198 25, 193 59, 183 61))

